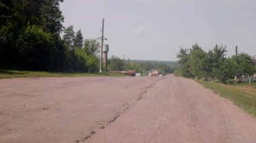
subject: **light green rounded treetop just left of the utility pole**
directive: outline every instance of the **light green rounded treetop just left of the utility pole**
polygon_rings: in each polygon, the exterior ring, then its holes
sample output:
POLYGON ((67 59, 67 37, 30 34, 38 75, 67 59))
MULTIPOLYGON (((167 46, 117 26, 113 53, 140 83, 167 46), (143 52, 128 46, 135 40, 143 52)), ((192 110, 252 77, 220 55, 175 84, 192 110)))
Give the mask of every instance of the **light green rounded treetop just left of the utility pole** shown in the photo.
POLYGON ((96 54, 100 43, 95 39, 84 40, 84 50, 87 54, 96 54))

